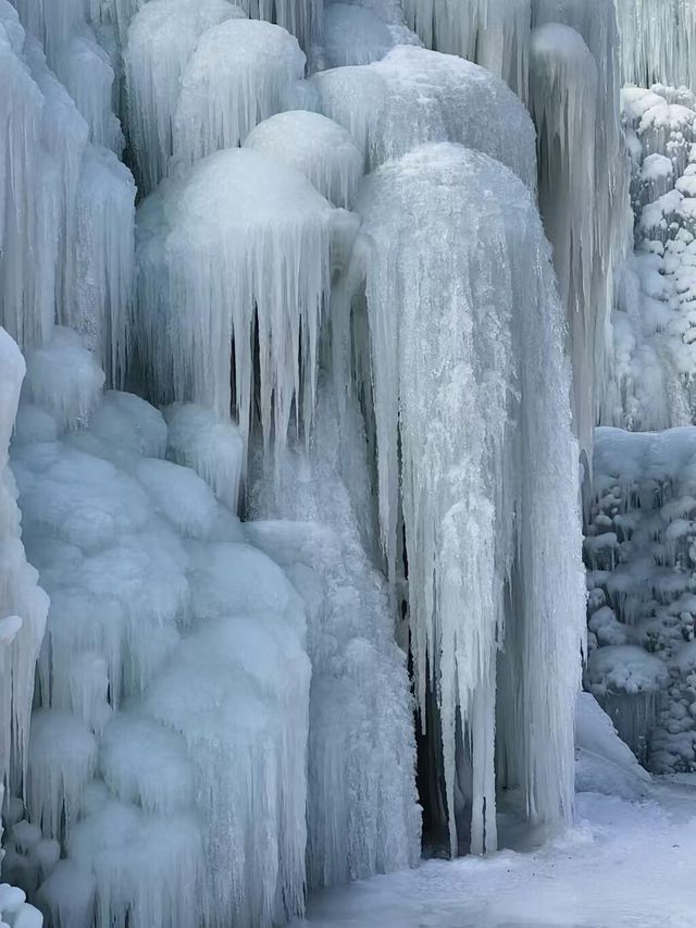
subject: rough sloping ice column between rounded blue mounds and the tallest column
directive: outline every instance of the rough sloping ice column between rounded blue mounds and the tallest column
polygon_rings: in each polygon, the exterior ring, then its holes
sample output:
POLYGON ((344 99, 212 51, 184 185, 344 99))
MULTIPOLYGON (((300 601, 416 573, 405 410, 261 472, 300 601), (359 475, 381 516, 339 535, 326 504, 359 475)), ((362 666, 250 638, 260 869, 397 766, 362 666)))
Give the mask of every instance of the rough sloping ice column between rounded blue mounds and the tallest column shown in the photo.
POLYGON ((351 412, 339 426, 324 376, 309 448, 284 453, 279 479, 275 468, 256 468, 249 494, 251 540, 287 571, 308 609, 311 888, 413 866, 419 856, 406 657, 387 584, 360 539, 369 481, 353 500, 341 477, 366 478, 362 418, 351 412))

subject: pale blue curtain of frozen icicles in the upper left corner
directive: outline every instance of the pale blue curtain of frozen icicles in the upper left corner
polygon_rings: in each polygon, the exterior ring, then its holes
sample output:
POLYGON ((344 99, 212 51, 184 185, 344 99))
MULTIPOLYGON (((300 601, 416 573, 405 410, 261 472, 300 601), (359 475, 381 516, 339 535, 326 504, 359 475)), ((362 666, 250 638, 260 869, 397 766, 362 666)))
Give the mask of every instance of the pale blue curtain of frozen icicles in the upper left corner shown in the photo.
MULTIPOLYGON (((129 315, 135 186, 113 152, 89 141, 90 125, 49 67, 52 59, 79 64, 82 47, 75 49, 70 30, 82 35, 84 17, 75 25, 77 12, 69 16, 62 4, 18 9, 37 35, 50 33, 52 41, 47 60, 3 2, 0 41, 10 92, 3 95, 0 143, 0 321, 22 347, 46 341, 54 321, 78 327, 117 381, 129 315)), ((91 126, 95 141, 109 140, 110 92, 109 86, 103 107, 92 108, 103 129, 91 126)))

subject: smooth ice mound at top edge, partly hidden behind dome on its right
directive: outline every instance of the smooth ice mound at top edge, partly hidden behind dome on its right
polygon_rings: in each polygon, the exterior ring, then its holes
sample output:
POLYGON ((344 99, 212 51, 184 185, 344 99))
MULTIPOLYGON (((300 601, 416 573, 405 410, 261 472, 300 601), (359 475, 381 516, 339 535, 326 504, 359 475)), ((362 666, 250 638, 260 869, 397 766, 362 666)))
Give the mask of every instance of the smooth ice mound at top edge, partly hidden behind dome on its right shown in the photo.
POLYGON ((225 20, 246 18, 227 0, 152 0, 133 17, 124 50, 128 129, 138 186, 165 177, 182 74, 200 36, 225 20))

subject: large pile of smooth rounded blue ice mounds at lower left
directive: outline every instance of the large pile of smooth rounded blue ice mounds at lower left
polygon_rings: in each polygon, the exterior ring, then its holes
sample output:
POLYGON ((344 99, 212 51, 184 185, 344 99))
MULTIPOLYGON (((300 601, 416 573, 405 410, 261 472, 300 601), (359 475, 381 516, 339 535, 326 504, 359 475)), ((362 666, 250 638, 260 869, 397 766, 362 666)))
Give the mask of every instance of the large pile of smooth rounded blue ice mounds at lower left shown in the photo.
POLYGON ((303 608, 203 480, 162 457, 204 470, 220 441, 238 474, 241 442, 184 406, 167 447, 161 413, 117 392, 97 396, 89 428, 66 432, 78 409, 55 412, 94 364, 76 338, 30 358, 32 382, 64 399, 33 395, 12 451, 26 543, 51 595, 30 827, 65 858, 27 869, 20 829, 10 873, 32 892, 40 883, 37 901, 71 928, 257 928, 301 915, 303 608))

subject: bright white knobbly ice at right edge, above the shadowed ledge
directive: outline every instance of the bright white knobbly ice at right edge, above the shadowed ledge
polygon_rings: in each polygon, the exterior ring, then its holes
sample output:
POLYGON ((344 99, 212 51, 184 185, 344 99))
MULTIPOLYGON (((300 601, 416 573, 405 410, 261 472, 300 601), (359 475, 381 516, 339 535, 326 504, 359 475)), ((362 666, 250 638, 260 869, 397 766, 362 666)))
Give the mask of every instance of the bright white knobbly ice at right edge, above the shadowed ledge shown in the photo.
POLYGON ((694 96, 622 91, 632 158, 635 252, 613 315, 616 367, 605 421, 666 429, 692 421, 695 284, 694 96))

